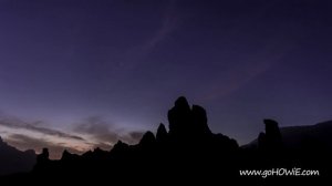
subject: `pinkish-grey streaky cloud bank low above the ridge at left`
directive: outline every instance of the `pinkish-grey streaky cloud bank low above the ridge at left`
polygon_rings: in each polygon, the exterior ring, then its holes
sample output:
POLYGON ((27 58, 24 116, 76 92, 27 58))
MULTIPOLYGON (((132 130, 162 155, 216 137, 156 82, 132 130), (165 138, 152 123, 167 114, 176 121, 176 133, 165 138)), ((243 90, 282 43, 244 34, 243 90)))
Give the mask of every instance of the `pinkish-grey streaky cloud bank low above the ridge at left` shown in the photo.
POLYGON ((64 149, 75 154, 96 147, 110 151, 118 140, 135 144, 143 136, 143 132, 117 128, 100 116, 84 118, 74 124, 72 130, 62 132, 46 127, 43 122, 28 122, 6 114, 0 114, 0 134, 6 142, 21 151, 34 149, 40 153, 46 147, 51 158, 61 158, 64 149))

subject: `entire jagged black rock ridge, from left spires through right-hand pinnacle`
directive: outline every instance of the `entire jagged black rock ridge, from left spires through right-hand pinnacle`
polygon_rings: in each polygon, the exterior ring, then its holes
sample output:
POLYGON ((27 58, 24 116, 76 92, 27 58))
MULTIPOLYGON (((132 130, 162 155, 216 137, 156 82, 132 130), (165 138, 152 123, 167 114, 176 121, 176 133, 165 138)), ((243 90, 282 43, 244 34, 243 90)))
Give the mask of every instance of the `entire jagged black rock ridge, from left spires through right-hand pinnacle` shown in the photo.
MULTIPOLYGON (((77 156, 65 151, 61 161, 50 161, 44 149, 38 156, 31 183, 34 183, 33 178, 42 177, 75 184, 85 180, 104 184, 105 178, 112 177, 112 182, 121 184, 145 185, 155 179, 169 184, 180 180, 207 185, 320 185, 321 179, 331 175, 331 169, 326 168, 331 167, 331 151, 319 146, 320 154, 314 154, 303 153, 303 148, 284 148, 278 123, 272 120, 263 121, 266 132, 259 134, 258 147, 245 148, 226 135, 211 133, 206 111, 198 105, 190 107, 185 97, 179 97, 169 110, 168 122, 168 132, 160 124, 156 136, 146 132, 136 145, 118 141, 110 152, 96 148, 77 156), (239 176, 239 169, 277 167, 320 169, 321 177, 274 177, 271 182, 260 176, 239 176)), ((315 141, 310 142, 315 145, 315 141)))

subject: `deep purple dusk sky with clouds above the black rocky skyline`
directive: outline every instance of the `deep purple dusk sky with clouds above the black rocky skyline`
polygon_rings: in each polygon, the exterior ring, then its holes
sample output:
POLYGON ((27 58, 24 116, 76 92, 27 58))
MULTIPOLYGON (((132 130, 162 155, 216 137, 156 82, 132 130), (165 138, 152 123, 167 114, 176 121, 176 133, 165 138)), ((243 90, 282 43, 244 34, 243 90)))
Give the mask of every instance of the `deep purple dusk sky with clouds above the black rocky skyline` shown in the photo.
POLYGON ((212 132, 332 120, 329 0, 0 0, 0 136, 111 148, 185 95, 212 132))

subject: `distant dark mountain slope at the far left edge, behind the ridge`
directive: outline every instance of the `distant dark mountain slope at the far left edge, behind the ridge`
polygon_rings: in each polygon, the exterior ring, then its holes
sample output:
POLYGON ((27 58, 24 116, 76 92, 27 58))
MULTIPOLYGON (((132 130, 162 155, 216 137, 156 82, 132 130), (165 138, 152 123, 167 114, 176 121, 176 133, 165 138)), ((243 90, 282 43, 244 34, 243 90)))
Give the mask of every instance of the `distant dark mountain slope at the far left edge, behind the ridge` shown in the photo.
POLYGON ((2 141, 0 136, 0 176, 30 172, 35 164, 35 153, 32 149, 21 152, 2 141))

